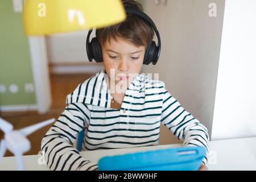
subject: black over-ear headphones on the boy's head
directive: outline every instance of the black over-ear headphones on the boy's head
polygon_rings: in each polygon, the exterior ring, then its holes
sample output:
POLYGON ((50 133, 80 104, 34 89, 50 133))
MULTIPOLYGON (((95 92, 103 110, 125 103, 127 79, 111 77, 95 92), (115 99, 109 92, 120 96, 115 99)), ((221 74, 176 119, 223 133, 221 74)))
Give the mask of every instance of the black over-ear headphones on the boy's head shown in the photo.
MULTIPOLYGON (((126 13, 134 14, 134 15, 142 18, 148 24, 150 24, 150 26, 152 28, 154 28, 154 31, 158 38, 158 46, 156 46, 156 43, 153 40, 151 40, 150 45, 146 49, 143 64, 148 65, 152 62, 152 64, 155 65, 159 59, 160 51, 161 51, 160 35, 159 35, 159 31, 157 30, 157 28, 155 26, 155 23, 148 15, 143 13, 143 11, 140 11, 137 9, 130 9, 130 8, 126 8, 125 10, 126 10, 126 13)), ((90 62, 92 61, 92 59, 94 59, 97 63, 101 63, 103 61, 102 51, 101 51, 100 43, 98 42, 97 38, 96 37, 92 38, 91 42, 89 43, 90 34, 92 34, 92 31, 93 30, 89 30, 87 38, 86 38, 87 56, 88 56, 88 59, 90 62)))

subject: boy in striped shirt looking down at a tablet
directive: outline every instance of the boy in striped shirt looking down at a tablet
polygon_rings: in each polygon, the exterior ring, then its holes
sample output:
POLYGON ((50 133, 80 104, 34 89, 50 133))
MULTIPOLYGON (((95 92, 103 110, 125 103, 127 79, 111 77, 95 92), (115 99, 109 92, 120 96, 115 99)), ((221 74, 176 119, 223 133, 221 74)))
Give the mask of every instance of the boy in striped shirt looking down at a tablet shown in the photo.
MULTIPOLYGON (((123 4, 143 11, 136 1, 123 4)), ((104 69, 67 96, 65 111, 42 140, 48 167, 97 170, 97 163, 80 156, 72 145, 84 128, 86 150, 157 145, 162 122, 185 146, 204 146, 208 151, 207 129, 183 109, 162 81, 139 74, 153 28, 127 14, 125 22, 101 28, 96 36, 104 69)))

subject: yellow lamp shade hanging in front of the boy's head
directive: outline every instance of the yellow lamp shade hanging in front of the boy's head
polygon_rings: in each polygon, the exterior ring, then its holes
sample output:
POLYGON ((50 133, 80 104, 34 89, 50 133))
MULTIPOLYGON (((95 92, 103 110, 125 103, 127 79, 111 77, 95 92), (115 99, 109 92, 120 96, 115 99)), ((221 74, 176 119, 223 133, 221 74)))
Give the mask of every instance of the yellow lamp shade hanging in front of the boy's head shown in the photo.
POLYGON ((120 0, 25 0, 26 35, 49 35, 110 26, 126 19, 120 0))

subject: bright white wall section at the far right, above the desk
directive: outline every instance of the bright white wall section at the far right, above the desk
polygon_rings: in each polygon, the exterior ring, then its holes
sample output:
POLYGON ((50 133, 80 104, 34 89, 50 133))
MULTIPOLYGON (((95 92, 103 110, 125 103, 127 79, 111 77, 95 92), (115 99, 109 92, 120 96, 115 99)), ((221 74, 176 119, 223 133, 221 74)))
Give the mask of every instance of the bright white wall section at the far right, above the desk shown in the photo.
POLYGON ((255 0, 226 0, 212 139, 256 136, 255 8, 255 0))

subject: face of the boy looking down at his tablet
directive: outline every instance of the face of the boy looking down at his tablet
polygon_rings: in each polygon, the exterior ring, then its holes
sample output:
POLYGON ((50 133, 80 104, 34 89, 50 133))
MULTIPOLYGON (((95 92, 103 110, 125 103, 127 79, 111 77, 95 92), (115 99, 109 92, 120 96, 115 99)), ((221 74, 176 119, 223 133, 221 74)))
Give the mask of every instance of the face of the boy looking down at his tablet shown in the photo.
POLYGON ((137 47, 124 39, 106 41, 102 57, 110 80, 115 83, 133 80, 141 72, 144 54, 145 46, 137 47))

